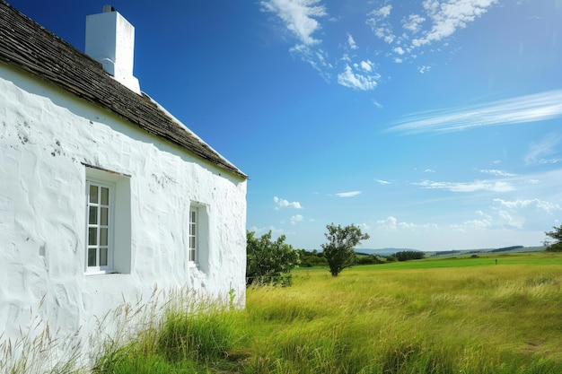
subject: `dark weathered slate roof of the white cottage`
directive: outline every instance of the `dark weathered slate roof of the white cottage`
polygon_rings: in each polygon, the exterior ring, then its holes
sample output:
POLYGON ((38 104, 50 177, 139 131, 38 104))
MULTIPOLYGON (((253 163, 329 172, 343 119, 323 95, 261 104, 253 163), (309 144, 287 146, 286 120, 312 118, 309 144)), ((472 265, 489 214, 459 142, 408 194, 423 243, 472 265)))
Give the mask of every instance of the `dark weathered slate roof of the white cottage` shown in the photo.
POLYGON ((0 0, 0 61, 22 68, 239 177, 247 176, 154 100, 115 81, 101 64, 0 0))

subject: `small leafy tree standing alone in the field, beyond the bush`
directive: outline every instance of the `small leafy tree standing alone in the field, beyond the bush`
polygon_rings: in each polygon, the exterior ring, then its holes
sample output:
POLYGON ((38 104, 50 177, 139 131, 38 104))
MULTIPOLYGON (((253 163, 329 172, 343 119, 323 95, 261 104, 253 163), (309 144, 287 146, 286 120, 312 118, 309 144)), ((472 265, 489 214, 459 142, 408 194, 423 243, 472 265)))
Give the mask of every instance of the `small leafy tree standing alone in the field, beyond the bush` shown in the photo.
POLYGON ((321 248, 324 250, 324 257, 328 259, 329 273, 338 276, 343 269, 354 264, 356 252, 353 248, 361 240, 369 239, 369 235, 362 233, 361 229, 353 224, 341 227, 332 223, 326 225, 326 229, 328 232, 324 235, 328 243, 322 244, 321 248))

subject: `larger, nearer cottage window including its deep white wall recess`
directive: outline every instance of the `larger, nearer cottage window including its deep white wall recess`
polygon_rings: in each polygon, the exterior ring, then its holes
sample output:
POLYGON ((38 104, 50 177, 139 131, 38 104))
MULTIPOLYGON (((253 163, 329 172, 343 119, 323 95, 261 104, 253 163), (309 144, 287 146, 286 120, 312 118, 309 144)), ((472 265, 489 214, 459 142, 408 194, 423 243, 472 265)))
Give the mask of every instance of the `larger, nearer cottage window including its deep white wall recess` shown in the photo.
POLYGON ((130 177, 85 168, 85 274, 131 272, 130 177))

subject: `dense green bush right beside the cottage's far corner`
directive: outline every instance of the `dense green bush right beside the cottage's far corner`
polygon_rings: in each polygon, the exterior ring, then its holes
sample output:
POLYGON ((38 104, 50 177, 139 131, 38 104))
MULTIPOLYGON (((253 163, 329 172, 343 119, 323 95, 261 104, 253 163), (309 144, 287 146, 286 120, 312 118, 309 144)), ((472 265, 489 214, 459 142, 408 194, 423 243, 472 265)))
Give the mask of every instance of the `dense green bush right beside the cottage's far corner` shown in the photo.
POLYGON ((290 285, 291 270, 299 265, 299 253, 285 243, 285 235, 271 240, 271 231, 256 238, 246 231, 246 285, 290 285))

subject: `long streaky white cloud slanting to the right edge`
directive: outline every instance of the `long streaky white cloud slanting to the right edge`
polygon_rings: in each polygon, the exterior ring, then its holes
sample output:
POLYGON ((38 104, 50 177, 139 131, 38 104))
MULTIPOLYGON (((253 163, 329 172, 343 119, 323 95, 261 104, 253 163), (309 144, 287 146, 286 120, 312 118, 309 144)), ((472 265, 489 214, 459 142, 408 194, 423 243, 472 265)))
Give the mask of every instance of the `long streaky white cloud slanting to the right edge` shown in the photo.
MULTIPOLYGON (((403 134, 460 131, 479 126, 513 125, 557 117, 562 117, 562 90, 470 107, 429 111, 408 117, 388 131, 403 134)), ((534 156, 531 154, 532 157, 534 156)))

